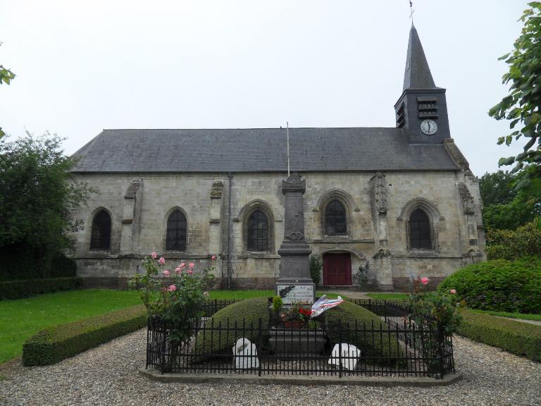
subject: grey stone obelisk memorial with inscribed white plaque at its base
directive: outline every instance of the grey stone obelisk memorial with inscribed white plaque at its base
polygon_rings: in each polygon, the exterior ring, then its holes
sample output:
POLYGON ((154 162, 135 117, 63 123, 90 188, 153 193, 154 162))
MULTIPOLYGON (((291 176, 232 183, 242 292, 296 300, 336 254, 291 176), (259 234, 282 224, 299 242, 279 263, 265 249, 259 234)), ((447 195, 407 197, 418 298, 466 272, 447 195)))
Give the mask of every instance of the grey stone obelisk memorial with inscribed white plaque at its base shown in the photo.
POLYGON ((306 180, 293 172, 282 180, 285 195, 284 240, 280 245, 280 278, 276 294, 285 305, 292 302, 311 302, 316 298, 316 285, 310 276, 309 256, 312 252, 304 237, 304 192, 306 180), (287 294, 286 294, 287 293, 287 294))

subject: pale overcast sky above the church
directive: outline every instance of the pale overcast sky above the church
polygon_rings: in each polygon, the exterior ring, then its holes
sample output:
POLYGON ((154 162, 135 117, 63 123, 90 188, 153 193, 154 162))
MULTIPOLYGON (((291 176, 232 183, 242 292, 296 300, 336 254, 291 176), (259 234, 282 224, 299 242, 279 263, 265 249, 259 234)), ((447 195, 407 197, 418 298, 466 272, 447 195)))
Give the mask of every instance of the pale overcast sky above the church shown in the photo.
MULTIPOLYGON (((478 176, 497 170, 521 0, 415 0, 451 134, 478 176)), ((408 0, 0 0, 0 126, 66 137, 72 154, 103 128, 394 127, 408 0)), ((211 147, 211 146, 209 146, 211 147)), ((385 145, 382 145, 385 147, 385 145)), ((188 151, 179 157, 189 157, 188 151)), ((156 157, 159 159, 159 157, 156 157)))

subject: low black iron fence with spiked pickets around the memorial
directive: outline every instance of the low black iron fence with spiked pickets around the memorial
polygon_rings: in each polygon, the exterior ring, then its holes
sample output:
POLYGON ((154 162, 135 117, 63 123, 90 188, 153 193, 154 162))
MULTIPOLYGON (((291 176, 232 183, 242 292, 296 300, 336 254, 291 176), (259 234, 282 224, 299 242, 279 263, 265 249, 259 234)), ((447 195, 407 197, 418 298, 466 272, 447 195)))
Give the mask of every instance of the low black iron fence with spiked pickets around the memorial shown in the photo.
MULTIPOLYGON (((355 301, 381 321, 321 322, 304 328, 259 319, 194 321, 192 335, 171 343, 162 319, 149 319, 147 368, 192 374, 431 376, 454 372, 452 335, 416 325, 397 302, 355 301)), ((211 309, 209 307, 209 314, 211 309)), ((215 310, 216 311, 216 310, 215 310)))

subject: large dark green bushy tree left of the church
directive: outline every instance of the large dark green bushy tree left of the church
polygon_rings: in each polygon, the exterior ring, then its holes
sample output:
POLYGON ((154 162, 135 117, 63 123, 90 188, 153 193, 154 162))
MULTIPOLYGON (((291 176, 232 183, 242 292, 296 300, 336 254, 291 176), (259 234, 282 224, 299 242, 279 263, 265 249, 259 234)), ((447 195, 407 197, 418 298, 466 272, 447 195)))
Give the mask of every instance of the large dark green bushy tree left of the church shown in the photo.
POLYGON ((73 178, 76 161, 63 154, 62 141, 49 133, 0 139, 2 278, 23 270, 25 276, 47 276, 51 260, 72 246, 70 233, 82 227, 73 211, 92 190, 73 178))

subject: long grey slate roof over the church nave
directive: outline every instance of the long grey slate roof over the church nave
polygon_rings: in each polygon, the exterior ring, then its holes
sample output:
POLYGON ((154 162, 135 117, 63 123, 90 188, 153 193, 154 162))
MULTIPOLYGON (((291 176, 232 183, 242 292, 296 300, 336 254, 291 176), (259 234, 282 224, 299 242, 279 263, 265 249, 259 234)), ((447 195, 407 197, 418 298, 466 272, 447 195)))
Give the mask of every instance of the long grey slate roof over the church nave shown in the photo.
MULTIPOLYGON (((457 171, 443 144, 399 128, 290 128, 292 171, 457 171)), ((104 130, 75 152, 76 173, 285 172, 286 130, 104 130)))

